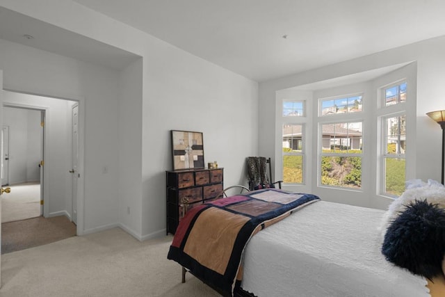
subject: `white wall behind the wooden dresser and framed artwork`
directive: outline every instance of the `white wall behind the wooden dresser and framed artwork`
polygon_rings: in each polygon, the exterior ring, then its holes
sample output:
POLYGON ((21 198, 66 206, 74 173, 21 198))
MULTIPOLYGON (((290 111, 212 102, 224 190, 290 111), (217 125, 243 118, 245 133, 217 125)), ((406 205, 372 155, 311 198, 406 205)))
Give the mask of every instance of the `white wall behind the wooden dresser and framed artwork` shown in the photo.
POLYGON ((218 161, 225 186, 244 183, 245 157, 257 153, 257 83, 166 45, 144 63, 142 225, 155 236, 165 228, 170 130, 202 131, 204 162, 218 161))

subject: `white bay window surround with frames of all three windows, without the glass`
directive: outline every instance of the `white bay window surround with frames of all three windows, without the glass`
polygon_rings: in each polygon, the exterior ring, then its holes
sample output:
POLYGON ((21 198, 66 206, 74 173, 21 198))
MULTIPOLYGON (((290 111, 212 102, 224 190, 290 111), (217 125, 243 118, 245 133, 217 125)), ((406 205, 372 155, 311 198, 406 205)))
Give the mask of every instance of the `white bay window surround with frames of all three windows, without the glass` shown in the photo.
MULTIPOLYGON (((314 193, 321 197, 329 197, 335 201, 360 204, 365 207, 386 209, 391 197, 382 195, 380 188, 383 186, 382 176, 382 140, 381 121, 382 116, 395 114, 401 104, 405 105, 407 121, 407 152, 406 179, 416 178, 416 74, 417 63, 410 62, 397 67, 395 70, 379 74, 378 77, 362 82, 351 82, 350 84, 339 84, 321 88, 315 86, 297 86, 275 91, 275 180, 282 179, 282 125, 286 120, 282 116, 282 100, 294 98, 295 101, 305 100, 305 117, 287 117, 289 124, 305 124, 305 141, 303 160, 303 185, 283 185, 289 191, 300 191, 300 193, 314 193), (401 104, 385 106, 382 97, 382 88, 390 87, 391 84, 407 83, 407 101, 401 104), (320 116, 321 105, 318 98, 334 99, 348 97, 351 95, 362 95, 362 111, 355 113, 340 113, 320 116), (382 108, 385 107, 385 108, 382 108), (295 121, 295 122, 293 122, 295 121), (362 121, 362 187, 357 192, 350 188, 332 188, 321 186, 321 159, 319 147, 321 139, 318 130, 321 123, 327 122, 357 122, 362 121), (315 163, 316 162, 316 163, 315 163), (334 191, 332 191, 334 190, 334 191), (338 192, 341 191, 341 192, 338 192)), ((261 148, 260 148, 261 150, 261 148)), ((356 154, 355 154, 356 155, 356 154)))

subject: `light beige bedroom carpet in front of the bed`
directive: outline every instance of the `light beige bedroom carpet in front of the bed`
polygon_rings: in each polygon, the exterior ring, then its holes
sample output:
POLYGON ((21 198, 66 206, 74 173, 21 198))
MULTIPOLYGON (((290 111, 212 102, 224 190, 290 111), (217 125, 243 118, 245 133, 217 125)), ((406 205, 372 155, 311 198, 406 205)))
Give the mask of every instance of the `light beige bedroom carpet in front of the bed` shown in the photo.
POLYGON ((1 256, 1 297, 220 296, 167 259, 172 236, 137 241, 120 228, 1 256))

